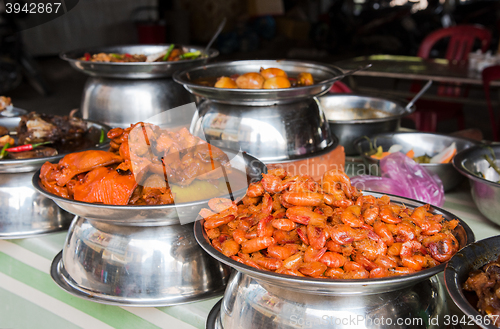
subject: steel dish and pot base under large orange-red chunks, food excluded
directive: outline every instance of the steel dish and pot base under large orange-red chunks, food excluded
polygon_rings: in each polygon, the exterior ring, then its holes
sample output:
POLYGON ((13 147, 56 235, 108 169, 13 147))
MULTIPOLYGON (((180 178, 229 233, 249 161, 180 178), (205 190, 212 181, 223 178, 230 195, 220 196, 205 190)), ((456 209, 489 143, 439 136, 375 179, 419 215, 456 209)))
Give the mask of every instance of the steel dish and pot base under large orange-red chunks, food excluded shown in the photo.
MULTIPOLYGON (((225 151, 248 182, 266 172, 250 155, 225 151)), ((193 224, 208 200, 159 206, 111 206, 67 200, 33 185, 61 208, 77 215, 51 275, 64 290, 84 299, 122 306, 169 306, 221 295, 228 267, 196 243, 193 224), (181 217, 188 217, 189 222, 181 217)), ((236 198, 246 188, 234 191, 236 198)))

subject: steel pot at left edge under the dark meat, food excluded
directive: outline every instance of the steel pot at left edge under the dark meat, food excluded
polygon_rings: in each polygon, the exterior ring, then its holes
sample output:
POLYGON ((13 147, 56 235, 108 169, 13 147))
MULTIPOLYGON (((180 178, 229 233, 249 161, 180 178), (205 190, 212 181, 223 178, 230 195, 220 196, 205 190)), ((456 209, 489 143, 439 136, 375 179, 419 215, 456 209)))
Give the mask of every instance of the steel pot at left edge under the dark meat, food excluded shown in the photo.
MULTIPOLYGON (((19 117, 0 117, 0 125, 13 130, 19 120, 19 117)), ((90 124, 106 133, 110 129, 95 122, 90 124)), ((109 141, 97 147, 107 148, 109 141)), ((46 161, 57 161, 63 156, 0 160, 0 203, 3 205, 0 210, 0 239, 26 238, 68 228, 73 216, 37 193, 31 184, 35 170, 46 161)))

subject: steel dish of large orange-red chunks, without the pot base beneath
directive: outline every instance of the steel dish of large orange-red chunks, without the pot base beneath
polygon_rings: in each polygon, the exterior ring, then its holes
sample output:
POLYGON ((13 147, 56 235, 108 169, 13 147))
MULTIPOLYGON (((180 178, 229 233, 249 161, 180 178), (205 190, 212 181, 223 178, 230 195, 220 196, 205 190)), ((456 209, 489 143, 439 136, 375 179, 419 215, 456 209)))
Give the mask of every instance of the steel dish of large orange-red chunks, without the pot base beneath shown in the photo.
POLYGON ((189 133, 137 123, 108 132, 110 149, 45 163, 33 185, 61 208, 117 225, 194 221, 208 199, 244 194, 265 165, 189 133))

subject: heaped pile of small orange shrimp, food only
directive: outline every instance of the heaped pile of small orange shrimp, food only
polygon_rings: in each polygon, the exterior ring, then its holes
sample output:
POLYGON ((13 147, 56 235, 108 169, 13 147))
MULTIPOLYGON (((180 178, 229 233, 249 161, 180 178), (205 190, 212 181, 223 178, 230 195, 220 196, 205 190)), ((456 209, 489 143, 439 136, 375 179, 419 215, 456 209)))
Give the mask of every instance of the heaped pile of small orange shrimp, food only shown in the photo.
POLYGON ((448 261, 459 249, 458 220, 362 195, 332 170, 320 182, 262 174, 238 202, 215 198, 202 209, 212 246, 235 261, 280 274, 367 279, 411 274, 448 261))

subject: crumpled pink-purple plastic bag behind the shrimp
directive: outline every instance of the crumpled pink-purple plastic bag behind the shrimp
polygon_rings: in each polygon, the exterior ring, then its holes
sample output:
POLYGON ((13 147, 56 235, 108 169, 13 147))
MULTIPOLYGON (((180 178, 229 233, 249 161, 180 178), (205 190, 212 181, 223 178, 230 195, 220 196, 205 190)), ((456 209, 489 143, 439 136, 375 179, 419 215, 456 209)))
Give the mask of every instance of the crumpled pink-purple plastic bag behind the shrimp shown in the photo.
POLYGON ((399 195, 438 207, 444 204, 441 179, 401 152, 380 160, 380 175, 355 176, 351 183, 361 190, 399 195))

